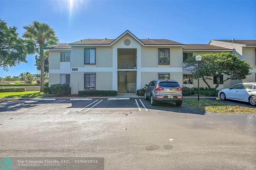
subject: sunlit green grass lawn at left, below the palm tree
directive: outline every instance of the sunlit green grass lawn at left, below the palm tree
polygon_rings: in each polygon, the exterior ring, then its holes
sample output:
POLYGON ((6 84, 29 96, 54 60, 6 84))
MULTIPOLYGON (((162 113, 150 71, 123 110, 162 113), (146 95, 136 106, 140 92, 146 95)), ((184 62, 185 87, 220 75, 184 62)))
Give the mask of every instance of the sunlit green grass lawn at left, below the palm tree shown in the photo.
POLYGON ((24 91, 24 92, 1 92, 0 97, 50 97, 51 94, 40 93, 40 91, 24 91))

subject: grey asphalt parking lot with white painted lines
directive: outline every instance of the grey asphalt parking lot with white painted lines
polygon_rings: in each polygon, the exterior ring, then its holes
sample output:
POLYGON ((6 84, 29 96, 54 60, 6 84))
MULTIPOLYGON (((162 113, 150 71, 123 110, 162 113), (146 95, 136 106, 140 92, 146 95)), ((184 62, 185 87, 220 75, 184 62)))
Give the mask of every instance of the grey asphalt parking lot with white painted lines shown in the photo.
POLYGON ((256 169, 252 115, 141 98, 1 101, 0 157, 104 157, 105 169, 256 169))

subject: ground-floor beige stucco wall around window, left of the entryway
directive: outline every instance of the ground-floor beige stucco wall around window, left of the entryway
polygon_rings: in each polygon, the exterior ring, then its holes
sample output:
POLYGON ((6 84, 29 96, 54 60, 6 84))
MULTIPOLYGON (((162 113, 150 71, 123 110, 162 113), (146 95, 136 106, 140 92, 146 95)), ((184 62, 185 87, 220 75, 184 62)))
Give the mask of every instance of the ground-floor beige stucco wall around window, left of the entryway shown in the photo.
MULTIPOLYGON (((96 90, 112 90, 112 72, 93 72, 96 73, 96 90)), ((71 94, 78 94, 84 90, 84 72, 72 72, 70 75, 71 94), (79 83, 79 84, 78 84, 79 83)))

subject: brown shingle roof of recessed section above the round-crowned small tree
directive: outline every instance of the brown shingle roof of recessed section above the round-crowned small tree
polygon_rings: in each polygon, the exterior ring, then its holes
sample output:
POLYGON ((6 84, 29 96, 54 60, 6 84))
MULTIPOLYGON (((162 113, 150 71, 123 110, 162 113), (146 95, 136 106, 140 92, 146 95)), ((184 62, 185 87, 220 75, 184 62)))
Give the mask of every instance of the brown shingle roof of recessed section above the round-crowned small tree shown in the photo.
POLYGON ((233 50, 225 47, 219 47, 210 44, 185 44, 183 50, 233 50))

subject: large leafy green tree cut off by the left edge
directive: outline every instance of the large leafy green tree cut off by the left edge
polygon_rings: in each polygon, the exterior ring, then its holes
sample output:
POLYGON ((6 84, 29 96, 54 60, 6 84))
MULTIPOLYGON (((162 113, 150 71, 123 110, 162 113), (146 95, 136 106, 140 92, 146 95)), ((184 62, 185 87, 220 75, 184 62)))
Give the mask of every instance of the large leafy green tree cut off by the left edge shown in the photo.
POLYGON ((0 19, 0 67, 8 71, 8 66, 13 67, 22 62, 27 63, 28 41, 18 37, 17 27, 8 27, 0 19))

